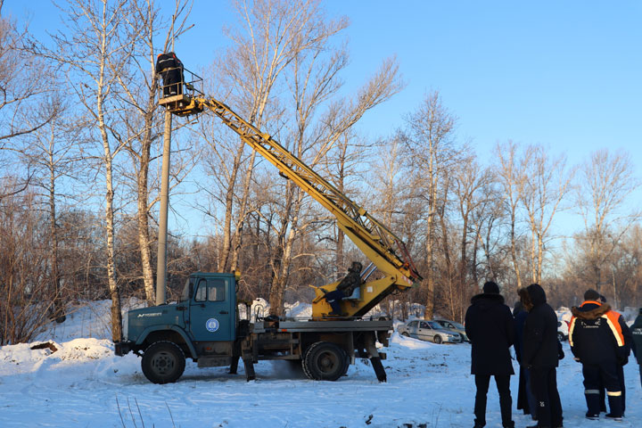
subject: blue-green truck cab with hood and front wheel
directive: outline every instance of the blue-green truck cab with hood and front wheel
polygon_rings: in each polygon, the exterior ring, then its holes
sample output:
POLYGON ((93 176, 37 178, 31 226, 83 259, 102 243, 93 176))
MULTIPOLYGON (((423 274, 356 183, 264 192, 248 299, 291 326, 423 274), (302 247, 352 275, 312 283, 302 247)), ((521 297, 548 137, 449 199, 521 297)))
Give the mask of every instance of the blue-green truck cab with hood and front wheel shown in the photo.
POLYGON ((231 365, 237 327, 235 275, 196 272, 177 303, 130 310, 115 353, 144 352, 145 376, 155 383, 174 382, 185 369, 185 357, 199 366, 231 365))

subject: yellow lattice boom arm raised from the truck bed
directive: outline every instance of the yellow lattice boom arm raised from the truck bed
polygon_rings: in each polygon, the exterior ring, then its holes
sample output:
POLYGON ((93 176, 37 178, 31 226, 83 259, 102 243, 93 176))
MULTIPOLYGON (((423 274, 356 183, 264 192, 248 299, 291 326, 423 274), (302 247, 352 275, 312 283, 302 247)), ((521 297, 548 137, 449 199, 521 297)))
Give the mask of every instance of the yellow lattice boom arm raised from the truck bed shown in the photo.
MULTIPOLYGON (((370 216, 366 210, 336 189, 332 184, 310 169, 303 161, 278 144, 271 136, 261 132, 242 119, 224 103, 202 95, 175 95, 162 98, 161 105, 177 116, 199 113, 207 109, 232 128, 241 139, 270 161, 277 169, 303 191, 312 196, 324 208, 332 212, 337 226, 363 251, 383 278, 368 281, 360 286, 358 299, 343 300, 343 313, 348 317, 361 317, 392 292, 411 287, 422 276, 406 250, 406 245, 386 226, 370 216)), ((334 290, 338 283, 328 284, 326 292, 334 290)), ((330 312, 330 305, 323 299, 324 292, 316 288, 317 296, 312 302, 313 317, 323 317, 330 312)))

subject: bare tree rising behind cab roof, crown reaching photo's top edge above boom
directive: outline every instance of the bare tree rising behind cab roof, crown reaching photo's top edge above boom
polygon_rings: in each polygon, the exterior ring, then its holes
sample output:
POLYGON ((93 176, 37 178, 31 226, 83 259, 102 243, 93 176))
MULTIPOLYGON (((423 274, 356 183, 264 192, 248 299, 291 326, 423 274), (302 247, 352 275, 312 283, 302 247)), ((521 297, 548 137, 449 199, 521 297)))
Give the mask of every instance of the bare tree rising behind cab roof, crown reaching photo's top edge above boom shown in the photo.
MULTIPOLYGON (((235 106, 258 128, 262 128, 272 91, 283 70, 297 53, 317 45, 343 27, 345 21, 327 23, 314 0, 241 1, 235 3, 240 25, 227 29, 233 45, 218 64, 218 73, 235 87, 235 106)), ((238 201, 235 231, 232 232, 234 189, 245 144, 239 142, 226 189, 223 248, 219 270, 234 270, 241 251, 243 225, 248 214, 248 198, 256 152, 251 152, 238 201)))

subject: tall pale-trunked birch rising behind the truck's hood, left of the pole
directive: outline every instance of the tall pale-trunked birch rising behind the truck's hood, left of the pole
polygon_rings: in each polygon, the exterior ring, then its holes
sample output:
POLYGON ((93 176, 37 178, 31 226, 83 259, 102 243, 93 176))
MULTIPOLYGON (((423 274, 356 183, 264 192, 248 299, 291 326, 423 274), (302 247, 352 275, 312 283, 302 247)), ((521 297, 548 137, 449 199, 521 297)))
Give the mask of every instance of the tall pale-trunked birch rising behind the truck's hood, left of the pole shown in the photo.
POLYGON ((68 90, 86 114, 90 131, 97 133, 96 142, 102 153, 97 155, 104 177, 104 232, 106 236, 107 282, 111 293, 111 336, 121 337, 119 284, 114 252, 114 157, 123 149, 115 126, 115 94, 118 78, 132 59, 136 37, 127 22, 134 21, 131 2, 127 0, 69 0, 62 8, 66 16, 64 31, 53 36, 55 50, 40 46, 40 53, 59 62, 70 80, 68 90), (115 144, 112 144, 116 141, 115 144))

